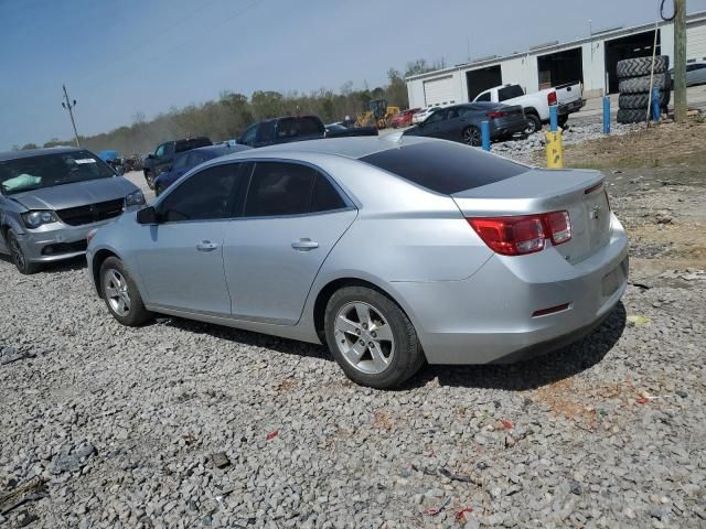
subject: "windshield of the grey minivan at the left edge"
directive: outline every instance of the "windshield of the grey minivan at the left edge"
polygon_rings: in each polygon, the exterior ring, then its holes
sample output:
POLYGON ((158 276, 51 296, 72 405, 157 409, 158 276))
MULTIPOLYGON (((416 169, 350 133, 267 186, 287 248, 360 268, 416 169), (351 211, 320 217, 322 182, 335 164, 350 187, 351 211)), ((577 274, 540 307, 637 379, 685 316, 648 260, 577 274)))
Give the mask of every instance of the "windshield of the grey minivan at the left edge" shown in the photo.
POLYGON ((6 195, 109 179, 115 173, 88 151, 57 152, 0 162, 0 187, 6 195))

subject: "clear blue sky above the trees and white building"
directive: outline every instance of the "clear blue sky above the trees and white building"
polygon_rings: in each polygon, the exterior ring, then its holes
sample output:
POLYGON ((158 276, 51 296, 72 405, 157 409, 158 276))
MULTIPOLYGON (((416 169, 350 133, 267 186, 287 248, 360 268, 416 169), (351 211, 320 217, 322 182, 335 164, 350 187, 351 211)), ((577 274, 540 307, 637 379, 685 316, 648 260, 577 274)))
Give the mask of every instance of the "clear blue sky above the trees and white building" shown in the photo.
MULTIPOLYGON (((671 4, 671 2, 667 2, 671 4)), ((688 0, 688 12, 706 0, 688 0)), ((657 0, 0 0, 0 150, 95 134, 223 90, 375 87, 393 66, 654 21, 657 0)))

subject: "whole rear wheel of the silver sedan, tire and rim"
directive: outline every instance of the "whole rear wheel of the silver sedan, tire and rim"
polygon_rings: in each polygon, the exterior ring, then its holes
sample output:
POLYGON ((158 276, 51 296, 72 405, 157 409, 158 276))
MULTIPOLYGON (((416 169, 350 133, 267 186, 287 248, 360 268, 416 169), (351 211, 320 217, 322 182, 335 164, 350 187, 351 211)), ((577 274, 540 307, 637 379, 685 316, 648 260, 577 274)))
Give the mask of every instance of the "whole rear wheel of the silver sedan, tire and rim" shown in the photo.
POLYGON ((331 354, 361 386, 399 386, 425 363, 414 325, 397 303, 377 290, 338 290, 327 304, 324 327, 331 354), (381 328, 386 330, 384 337, 376 333, 381 328))

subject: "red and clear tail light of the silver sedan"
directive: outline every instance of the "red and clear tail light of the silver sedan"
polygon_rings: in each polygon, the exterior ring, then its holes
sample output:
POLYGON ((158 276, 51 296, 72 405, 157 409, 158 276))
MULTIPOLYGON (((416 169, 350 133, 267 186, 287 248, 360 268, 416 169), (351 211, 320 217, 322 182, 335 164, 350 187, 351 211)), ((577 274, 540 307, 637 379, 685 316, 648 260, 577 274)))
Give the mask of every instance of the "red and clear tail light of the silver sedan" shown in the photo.
POLYGON ((467 220, 491 250, 503 256, 523 256, 542 251, 547 239, 554 246, 571 239, 568 212, 515 217, 474 217, 467 220))

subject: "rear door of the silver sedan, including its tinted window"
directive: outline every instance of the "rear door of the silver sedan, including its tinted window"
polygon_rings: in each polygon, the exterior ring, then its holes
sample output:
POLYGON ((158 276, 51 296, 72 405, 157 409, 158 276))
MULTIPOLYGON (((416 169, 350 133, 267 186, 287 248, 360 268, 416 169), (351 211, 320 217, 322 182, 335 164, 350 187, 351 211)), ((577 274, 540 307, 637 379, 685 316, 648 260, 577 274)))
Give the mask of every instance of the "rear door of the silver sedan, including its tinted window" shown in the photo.
POLYGON ((321 264, 356 214, 317 169, 257 162, 243 216, 225 235, 234 317, 295 325, 321 264))

